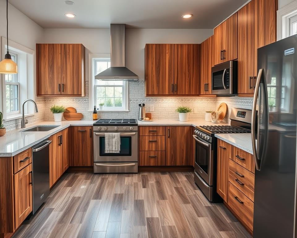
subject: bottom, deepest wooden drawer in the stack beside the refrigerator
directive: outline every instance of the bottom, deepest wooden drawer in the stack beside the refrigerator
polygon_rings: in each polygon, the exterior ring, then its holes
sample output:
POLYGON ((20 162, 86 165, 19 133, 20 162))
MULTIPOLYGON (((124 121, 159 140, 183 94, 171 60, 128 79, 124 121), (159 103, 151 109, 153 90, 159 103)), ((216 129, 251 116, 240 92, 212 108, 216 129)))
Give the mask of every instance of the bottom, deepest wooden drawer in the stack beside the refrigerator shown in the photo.
POLYGON ((230 182, 228 205, 253 230, 254 203, 230 182))

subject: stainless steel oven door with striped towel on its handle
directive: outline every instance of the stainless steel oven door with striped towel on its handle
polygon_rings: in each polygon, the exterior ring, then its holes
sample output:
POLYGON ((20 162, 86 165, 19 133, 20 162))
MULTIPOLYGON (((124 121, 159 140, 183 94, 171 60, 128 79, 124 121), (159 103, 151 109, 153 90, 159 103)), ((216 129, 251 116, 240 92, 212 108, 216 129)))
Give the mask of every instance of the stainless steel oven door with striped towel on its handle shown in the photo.
MULTIPOLYGON (((119 133, 109 131, 108 133, 119 133)), ((137 162, 137 131, 120 132, 121 146, 119 153, 105 153, 105 133, 94 132, 94 162, 137 162)))

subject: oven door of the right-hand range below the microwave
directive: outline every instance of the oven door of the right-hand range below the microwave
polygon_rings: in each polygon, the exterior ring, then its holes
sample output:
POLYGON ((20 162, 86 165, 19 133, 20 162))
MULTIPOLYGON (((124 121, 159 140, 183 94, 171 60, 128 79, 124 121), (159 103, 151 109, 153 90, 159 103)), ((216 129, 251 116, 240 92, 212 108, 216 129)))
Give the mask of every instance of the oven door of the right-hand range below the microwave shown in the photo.
POLYGON ((209 185, 213 185, 213 148, 211 143, 202 141, 193 135, 195 140, 195 170, 209 185))

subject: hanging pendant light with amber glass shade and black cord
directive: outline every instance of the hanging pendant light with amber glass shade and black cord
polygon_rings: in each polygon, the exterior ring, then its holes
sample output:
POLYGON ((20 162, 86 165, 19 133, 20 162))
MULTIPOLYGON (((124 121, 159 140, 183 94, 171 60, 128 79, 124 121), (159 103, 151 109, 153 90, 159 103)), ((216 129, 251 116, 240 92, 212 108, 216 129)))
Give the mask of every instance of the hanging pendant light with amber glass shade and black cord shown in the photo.
POLYGON ((11 59, 11 55, 8 52, 8 0, 6 0, 6 37, 7 37, 7 53, 4 57, 4 60, 0 62, 0 73, 4 74, 14 74, 18 73, 18 66, 11 59))

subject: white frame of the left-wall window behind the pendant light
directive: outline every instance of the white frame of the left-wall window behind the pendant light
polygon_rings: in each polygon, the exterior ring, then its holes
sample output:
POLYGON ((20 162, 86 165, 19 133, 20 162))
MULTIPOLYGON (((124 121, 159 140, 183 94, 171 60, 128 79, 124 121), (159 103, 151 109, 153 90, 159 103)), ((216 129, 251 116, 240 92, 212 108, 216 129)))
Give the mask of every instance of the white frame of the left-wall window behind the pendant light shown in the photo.
MULTIPOLYGON (((1 37, 0 50, 2 59, 4 59, 7 51, 7 39, 1 37)), ((6 92, 5 92, 5 74, 0 75, 0 111, 3 113, 5 121, 15 120, 22 117, 22 102, 25 99, 35 100, 36 97, 36 57, 35 51, 22 46, 16 42, 9 40, 9 52, 18 55, 18 83, 19 83, 19 112, 6 113, 6 92)), ((24 114, 27 117, 34 116, 34 105, 26 104, 24 107, 24 114)))

